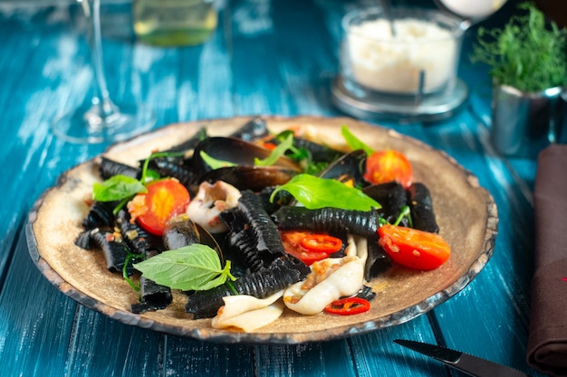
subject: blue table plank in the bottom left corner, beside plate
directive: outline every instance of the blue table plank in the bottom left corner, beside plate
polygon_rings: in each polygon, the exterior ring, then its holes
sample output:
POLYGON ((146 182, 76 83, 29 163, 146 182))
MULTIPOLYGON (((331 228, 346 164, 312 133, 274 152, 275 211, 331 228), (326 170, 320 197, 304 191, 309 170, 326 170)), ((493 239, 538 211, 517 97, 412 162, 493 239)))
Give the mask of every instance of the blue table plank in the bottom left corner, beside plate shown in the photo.
POLYGON ((35 268, 20 232, 0 295, 0 365, 5 375, 62 376, 76 304, 35 268))

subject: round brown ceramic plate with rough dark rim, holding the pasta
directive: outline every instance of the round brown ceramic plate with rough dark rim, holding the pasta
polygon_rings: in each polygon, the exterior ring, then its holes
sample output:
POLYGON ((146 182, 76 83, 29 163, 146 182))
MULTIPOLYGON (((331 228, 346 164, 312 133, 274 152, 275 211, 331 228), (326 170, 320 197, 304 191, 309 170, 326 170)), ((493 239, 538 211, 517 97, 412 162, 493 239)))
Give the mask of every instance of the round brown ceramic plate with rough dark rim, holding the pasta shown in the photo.
MULTIPOLYGON (((111 146, 105 156, 135 165, 156 149, 166 149, 207 127, 211 136, 227 135, 249 118, 205 120, 174 124, 111 146)), ((310 125, 322 141, 343 145, 341 126, 375 149, 403 152, 414 167, 415 182, 428 185, 437 213, 440 234, 451 245, 452 255, 439 269, 428 272, 393 267, 370 282, 377 293, 370 312, 357 316, 301 316, 283 313, 272 325, 254 333, 217 330, 210 319, 193 320, 185 312, 187 297, 176 294, 164 310, 136 315, 130 304, 137 293, 118 274, 105 268, 101 252, 82 250, 74 240, 82 231, 88 212, 83 199, 100 180, 94 158, 62 174, 57 184, 36 202, 30 215, 30 254, 45 278, 62 293, 84 306, 128 325, 138 325, 172 335, 226 343, 298 344, 370 332, 399 325, 424 314, 453 297, 485 267, 494 250, 497 212, 490 193, 476 177, 447 154, 392 130, 351 118, 266 118, 273 131, 310 125)))

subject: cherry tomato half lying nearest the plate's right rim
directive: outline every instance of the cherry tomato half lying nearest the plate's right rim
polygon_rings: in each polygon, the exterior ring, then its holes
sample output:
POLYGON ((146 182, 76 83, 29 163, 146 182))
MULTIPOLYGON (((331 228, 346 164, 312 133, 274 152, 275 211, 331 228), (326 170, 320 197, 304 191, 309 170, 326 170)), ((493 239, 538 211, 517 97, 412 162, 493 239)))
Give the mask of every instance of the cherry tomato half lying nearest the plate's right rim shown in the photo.
POLYGON ((389 257, 410 269, 437 269, 451 255, 447 241, 436 233, 389 224, 378 233, 378 243, 389 257))

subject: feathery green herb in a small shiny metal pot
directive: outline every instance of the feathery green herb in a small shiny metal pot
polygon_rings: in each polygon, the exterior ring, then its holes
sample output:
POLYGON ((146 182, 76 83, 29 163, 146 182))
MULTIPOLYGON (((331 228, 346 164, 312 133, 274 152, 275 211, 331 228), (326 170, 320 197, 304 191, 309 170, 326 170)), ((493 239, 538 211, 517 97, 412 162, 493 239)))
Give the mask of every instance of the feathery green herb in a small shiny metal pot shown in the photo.
POLYGON ((547 23, 532 3, 518 5, 503 28, 478 29, 472 61, 493 78, 491 141, 505 156, 533 157, 562 127, 567 31, 547 23))

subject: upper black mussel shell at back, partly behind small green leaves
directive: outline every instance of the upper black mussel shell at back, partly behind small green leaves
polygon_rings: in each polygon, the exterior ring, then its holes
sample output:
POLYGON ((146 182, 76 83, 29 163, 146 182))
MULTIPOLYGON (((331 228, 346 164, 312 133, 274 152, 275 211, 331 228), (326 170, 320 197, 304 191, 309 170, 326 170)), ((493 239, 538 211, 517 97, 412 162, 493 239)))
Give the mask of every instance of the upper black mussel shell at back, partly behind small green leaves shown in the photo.
MULTIPOLYGON (((208 137, 198 144, 193 155, 193 165, 197 172, 205 174, 213 170, 200 156, 201 151, 217 160, 227 161, 235 165, 254 166, 255 158, 264 159, 272 151, 235 137, 208 137)), ((289 157, 278 158, 273 166, 299 172, 301 166, 289 157)))

